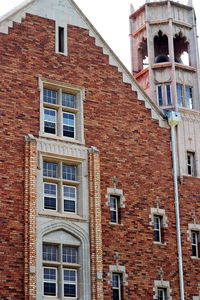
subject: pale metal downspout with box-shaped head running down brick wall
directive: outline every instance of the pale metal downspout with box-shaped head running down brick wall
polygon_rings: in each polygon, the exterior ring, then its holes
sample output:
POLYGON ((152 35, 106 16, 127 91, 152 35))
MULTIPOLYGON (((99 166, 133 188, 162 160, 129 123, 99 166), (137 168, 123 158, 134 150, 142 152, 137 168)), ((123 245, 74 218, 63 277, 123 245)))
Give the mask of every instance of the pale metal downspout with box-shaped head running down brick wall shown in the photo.
POLYGON ((174 179, 174 202, 176 212, 176 237, 178 247, 178 267, 179 267, 179 284, 180 284, 180 299, 184 300, 184 280, 183 280, 183 259, 181 245, 181 229, 180 229, 180 211, 179 211, 179 194, 177 182, 177 152, 176 152, 176 126, 180 123, 181 117, 178 112, 168 112, 168 123, 171 127, 171 147, 173 159, 173 179, 174 179))

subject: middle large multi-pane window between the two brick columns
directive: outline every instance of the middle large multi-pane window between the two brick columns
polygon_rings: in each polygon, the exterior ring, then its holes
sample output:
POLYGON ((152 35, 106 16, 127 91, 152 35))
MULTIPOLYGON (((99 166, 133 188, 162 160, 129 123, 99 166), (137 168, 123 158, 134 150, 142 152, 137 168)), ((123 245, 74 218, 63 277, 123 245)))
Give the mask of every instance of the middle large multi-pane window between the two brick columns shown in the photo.
POLYGON ((77 213, 78 166, 43 161, 44 209, 77 213))

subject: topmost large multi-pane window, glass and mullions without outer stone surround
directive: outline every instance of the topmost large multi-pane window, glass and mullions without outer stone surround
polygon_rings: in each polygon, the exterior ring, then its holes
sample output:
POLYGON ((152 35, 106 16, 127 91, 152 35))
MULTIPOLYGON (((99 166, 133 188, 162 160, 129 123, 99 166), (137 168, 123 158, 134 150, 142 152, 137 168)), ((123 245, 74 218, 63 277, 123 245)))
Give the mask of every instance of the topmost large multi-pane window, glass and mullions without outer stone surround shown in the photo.
POLYGON ((76 95, 64 90, 43 90, 44 133, 76 139, 76 95))

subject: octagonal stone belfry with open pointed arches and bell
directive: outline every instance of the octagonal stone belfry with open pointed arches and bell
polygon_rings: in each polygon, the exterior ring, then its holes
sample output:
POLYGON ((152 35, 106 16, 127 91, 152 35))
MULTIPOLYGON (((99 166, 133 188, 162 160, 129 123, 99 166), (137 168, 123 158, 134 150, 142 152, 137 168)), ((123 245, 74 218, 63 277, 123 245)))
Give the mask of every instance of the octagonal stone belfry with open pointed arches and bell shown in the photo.
POLYGON ((200 111, 195 11, 178 1, 148 1, 130 16, 132 72, 162 109, 200 111))

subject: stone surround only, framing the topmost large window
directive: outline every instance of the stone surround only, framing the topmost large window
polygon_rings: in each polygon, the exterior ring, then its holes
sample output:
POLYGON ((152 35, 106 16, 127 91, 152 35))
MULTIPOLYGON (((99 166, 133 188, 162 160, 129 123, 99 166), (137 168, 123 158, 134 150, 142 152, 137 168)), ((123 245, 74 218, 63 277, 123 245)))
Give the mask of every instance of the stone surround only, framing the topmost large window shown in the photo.
MULTIPOLYGON (((72 85, 65 82, 58 82, 50 79, 45 79, 38 76, 39 91, 40 91, 40 137, 47 137, 56 140, 63 140, 71 143, 85 144, 84 140, 84 118, 83 118, 83 102, 85 100, 85 89, 80 86, 72 85), (54 89, 58 92, 62 90, 76 95, 77 112, 76 112, 76 138, 63 137, 57 134, 49 134, 44 132, 44 104, 43 104, 43 89, 54 89)), ((59 118, 59 117, 58 117, 59 118)))

